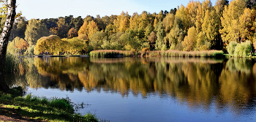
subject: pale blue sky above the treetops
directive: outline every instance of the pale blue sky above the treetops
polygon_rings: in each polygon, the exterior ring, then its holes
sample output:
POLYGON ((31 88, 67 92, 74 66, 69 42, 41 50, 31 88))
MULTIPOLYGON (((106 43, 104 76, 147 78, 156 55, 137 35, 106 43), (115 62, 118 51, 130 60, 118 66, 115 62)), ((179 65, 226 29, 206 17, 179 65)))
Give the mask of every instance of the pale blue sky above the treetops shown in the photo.
MULTIPOLYGON (((202 2, 203 0, 200 0, 202 2)), ((217 0, 211 0, 214 5, 217 0)), ((86 15, 104 17, 105 15, 120 15, 122 11, 132 15, 144 10, 150 13, 177 8, 189 0, 17 0, 17 11, 21 11, 27 20, 31 18, 59 18, 68 15, 74 17, 86 15)))

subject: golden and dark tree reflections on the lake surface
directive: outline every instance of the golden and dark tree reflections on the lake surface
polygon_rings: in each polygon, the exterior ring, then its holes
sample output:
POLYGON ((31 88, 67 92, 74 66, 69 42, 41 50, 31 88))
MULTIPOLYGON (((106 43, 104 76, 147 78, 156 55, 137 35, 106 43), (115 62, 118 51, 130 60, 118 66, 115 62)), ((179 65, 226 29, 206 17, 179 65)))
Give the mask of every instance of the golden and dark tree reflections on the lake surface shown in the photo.
POLYGON ((84 87, 87 92, 106 91, 123 97, 170 97, 193 109, 215 106, 235 114, 255 109, 256 65, 251 59, 31 59, 29 68, 33 70, 22 75, 27 83, 17 85, 66 91, 82 91, 84 87))

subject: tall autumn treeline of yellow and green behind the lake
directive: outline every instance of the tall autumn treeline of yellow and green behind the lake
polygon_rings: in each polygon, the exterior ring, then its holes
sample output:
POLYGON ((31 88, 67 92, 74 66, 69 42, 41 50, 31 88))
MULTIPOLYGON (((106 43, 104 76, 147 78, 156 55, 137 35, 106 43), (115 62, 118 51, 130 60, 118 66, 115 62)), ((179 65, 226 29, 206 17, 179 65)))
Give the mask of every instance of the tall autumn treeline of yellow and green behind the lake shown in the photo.
MULTIPOLYGON (((91 50, 132 50, 144 47, 151 50, 224 50, 231 41, 254 43, 255 1, 217 0, 189 1, 187 6, 153 14, 143 11, 129 15, 111 15, 94 18, 74 18, 72 15, 50 19, 19 18, 12 29, 10 41, 15 37, 27 42, 15 50, 34 53, 41 37, 57 35, 61 39, 80 39, 85 42, 82 53, 91 50)), ((46 51, 46 50, 45 50, 46 51)))

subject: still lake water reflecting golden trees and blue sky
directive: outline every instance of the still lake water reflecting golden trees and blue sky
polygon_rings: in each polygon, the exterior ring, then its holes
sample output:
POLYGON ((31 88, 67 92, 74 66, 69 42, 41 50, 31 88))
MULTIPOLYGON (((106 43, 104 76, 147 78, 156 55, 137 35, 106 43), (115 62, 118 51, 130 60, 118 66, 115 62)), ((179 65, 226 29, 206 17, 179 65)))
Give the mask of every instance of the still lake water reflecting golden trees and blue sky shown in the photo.
POLYGON ((9 85, 89 104, 107 121, 256 121, 249 58, 23 58, 9 85))

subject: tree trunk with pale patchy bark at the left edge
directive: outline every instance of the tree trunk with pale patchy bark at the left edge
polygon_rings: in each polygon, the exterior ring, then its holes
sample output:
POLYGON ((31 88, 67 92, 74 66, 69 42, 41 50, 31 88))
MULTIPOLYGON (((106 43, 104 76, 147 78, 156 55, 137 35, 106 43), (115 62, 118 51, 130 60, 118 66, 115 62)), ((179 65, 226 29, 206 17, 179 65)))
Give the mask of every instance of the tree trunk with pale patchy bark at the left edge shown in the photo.
POLYGON ((5 60, 6 60, 8 39, 10 37, 12 24, 15 20, 15 15, 16 15, 15 4, 16 4, 16 0, 8 0, 7 17, 4 23, 3 31, 1 32, 1 36, 0 36, 0 91, 7 91, 10 89, 5 82, 4 66, 5 66, 5 60))

